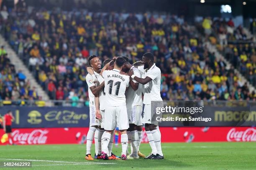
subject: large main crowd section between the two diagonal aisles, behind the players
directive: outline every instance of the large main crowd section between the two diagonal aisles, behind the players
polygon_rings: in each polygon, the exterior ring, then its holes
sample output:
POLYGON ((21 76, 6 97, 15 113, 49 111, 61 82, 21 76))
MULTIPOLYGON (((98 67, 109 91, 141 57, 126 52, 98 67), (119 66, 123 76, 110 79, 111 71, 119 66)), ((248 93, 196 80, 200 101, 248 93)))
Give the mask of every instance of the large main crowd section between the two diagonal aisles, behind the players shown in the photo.
MULTIPOLYGON (((226 70, 225 62, 207 51, 202 35, 183 17, 17 8, 0 22, 2 34, 50 98, 72 100, 73 106, 77 105, 75 101, 88 99, 85 76, 90 55, 97 55, 102 61, 127 56, 133 63, 141 60, 145 52, 154 53, 161 69, 164 100, 256 98, 233 68, 226 70)), ((202 26, 210 35, 208 24, 212 28, 211 20, 202 26)), ((243 39, 243 32, 239 35, 243 39)), ((244 49, 238 51, 240 57, 244 52, 248 55, 244 49)), ((255 46, 250 52, 255 56, 255 46)), ((251 60, 247 58, 245 65, 251 60)), ((255 62, 253 69, 255 76, 255 62)))

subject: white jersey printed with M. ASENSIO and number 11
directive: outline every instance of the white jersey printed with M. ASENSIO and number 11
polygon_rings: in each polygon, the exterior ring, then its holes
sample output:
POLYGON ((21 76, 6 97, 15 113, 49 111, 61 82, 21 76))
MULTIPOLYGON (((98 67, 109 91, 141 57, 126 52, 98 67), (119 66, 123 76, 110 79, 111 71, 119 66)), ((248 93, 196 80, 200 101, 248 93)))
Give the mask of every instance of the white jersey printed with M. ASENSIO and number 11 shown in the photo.
POLYGON ((120 70, 105 70, 102 72, 105 81, 105 104, 108 106, 125 105, 125 90, 129 86, 130 77, 121 75, 120 70))

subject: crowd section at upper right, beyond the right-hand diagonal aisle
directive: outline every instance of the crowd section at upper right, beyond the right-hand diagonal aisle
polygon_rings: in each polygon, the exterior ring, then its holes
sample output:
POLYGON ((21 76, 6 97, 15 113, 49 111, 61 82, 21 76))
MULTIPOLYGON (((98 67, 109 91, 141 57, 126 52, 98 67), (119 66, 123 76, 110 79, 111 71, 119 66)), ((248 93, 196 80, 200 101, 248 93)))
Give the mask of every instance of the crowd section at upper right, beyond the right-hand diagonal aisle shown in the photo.
POLYGON ((225 58, 231 62, 233 67, 238 69, 255 87, 256 43, 253 37, 248 37, 241 25, 235 27, 232 18, 228 21, 222 18, 215 20, 204 18, 201 28, 201 31, 209 36, 210 41, 217 44, 223 51, 225 58))

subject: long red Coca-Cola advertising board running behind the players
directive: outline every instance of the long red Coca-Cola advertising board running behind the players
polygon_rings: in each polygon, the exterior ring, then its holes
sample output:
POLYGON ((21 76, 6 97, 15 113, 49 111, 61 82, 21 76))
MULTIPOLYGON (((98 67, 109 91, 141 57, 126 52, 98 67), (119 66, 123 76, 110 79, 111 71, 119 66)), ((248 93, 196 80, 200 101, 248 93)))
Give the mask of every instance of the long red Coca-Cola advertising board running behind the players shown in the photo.
MULTIPOLYGON (((13 129, 17 145, 83 144, 89 128, 19 128, 13 129)), ((160 127, 161 141, 169 142, 256 142, 255 127, 160 127)), ((0 137, 4 135, 0 131, 0 137)), ((3 140, 4 141, 4 140, 3 140)), ((120 138, 119 141, 120 142, 120 138)), ((142 142, 148 142, 143 131, 142 142)), ((0 142, 0 145, 6 145, 0 142)))

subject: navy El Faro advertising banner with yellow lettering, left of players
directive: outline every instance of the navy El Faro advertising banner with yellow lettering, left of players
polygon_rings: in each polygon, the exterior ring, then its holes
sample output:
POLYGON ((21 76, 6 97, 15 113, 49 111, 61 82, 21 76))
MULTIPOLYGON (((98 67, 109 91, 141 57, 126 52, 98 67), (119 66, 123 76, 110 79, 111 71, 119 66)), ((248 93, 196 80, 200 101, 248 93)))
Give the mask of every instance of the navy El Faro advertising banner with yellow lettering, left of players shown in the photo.
POLYGON ((89 127, 89 107, 3 107, 12 110, 13 128, 89 127))

